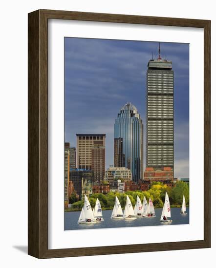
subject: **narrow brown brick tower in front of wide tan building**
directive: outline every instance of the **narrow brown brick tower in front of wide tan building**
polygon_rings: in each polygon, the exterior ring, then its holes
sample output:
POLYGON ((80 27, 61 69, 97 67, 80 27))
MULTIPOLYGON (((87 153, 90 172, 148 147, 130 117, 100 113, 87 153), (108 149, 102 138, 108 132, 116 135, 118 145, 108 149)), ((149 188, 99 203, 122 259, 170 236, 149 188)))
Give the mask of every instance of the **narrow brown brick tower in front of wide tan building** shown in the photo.
POLYGON ((105 176, 105 145, 103 140, 94 140, 91 148, 91 170, 94 181, 103 181, 105 176))

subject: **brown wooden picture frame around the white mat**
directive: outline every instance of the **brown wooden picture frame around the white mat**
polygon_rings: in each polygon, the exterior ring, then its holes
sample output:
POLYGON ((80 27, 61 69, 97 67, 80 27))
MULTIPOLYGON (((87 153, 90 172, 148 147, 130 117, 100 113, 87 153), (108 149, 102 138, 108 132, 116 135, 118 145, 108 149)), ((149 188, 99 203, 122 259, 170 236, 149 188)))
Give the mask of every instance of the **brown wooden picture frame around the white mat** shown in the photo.
POLYGON ((28 14, 28 254, 37 258, 211 247, 211 21, 58 10, 28 14), (48 19, 198 27, 204 29, 204 240, 48 249, 48 19))

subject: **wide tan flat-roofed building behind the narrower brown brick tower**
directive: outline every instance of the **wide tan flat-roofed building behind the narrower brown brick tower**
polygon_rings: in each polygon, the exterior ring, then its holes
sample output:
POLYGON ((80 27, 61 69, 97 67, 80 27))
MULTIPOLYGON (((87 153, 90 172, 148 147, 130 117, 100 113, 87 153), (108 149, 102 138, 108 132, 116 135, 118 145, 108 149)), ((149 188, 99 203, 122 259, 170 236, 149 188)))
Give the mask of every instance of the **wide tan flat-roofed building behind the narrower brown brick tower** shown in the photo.
MULTIPOLYGON (((94 141, 102 141, 105 146, 106 134, 76 134, 77 135, 77 168, 92 170, 92 147, 94 141)), ((105 163, 105 154, 102 162, 105 163)))

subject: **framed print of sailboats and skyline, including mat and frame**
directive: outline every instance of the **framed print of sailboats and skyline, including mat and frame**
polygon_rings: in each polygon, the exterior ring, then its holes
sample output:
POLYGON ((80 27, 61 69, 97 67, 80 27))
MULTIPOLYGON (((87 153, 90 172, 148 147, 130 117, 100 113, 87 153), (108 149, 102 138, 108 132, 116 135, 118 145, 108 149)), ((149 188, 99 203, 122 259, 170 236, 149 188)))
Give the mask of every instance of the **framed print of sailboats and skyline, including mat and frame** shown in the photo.
POLYGON ((28 15, 28 253, 211 246, 210 21, 28 15))

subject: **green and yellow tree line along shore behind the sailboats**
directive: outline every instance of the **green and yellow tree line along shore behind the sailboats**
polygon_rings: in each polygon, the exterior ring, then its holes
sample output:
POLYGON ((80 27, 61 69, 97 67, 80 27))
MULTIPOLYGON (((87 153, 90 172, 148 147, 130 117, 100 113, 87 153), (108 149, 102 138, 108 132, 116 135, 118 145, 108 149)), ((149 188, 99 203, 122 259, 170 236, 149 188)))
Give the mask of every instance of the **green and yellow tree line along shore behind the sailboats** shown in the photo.
MULTIPOLYGON (((181 207, 183 195, 185 196, 186 205, 189 206, 189 186, 183 181, 176 182, 173 188, 161 183, 153 182, 151 188, 148 191, 127 191, 125 193, 109 192, 107 194, 94 193, 89 197, 91 207, 95 207, 96 199, 98 198, 101 203, 102 210, 112 210, 115 204, 115 196, 117 195, 121 206, 124 208, 126 204, 126 196, 130 197, 131 204, 135 206, 136 197, 139 196, 141 202, 143 202, 144 196, 147 201, 151 198, 155 208, 163 208, 163 202, 165 193, 168 193, 170 198, 171 207, 181 207)), ((78 201, 76 194, 72 193, 70 196, 71 207, 65 209, 65 211, 81 211, 84 205, 84 200, 78 201)))

